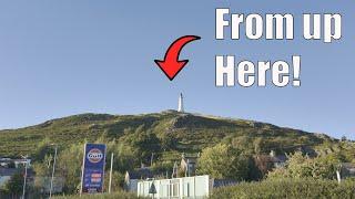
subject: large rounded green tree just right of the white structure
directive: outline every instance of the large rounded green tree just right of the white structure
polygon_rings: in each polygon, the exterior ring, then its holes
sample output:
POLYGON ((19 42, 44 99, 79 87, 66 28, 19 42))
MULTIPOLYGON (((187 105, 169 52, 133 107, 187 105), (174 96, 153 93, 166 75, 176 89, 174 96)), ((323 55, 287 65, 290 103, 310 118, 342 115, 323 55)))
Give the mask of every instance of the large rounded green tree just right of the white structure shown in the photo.
POLYGON ((213 178, 245 180, 248 175, 250 157, 230 145, 219 144, 202 150, 197 172, 213 178))

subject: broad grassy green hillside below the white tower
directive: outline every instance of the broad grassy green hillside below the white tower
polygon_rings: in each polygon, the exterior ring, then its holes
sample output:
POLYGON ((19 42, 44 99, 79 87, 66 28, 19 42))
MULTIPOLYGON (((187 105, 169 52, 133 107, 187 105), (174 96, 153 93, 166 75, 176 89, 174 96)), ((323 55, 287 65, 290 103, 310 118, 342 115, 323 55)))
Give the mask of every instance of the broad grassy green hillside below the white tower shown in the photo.
POLYGON ((265 153, 270 149, 292 151, 300 146, 314 148, 324 143, 337 142, 323 134, 272 124, 175 111, 143 115, 82 114, 26 128, 0 130, 0 157, 33 154, 37 145, 44 138, 63 147, 84 140, 94 142, 102 136, 125 142, 135 139, 129 137, 134 133, 140 136, 140 132, 150 132, 156 136, 156 140, 148 143, 146 147, 159 145, 155 151, 162 156, 200 151, 221 142, 244 145, 244 148, 251 149, 258 147, 265 153))

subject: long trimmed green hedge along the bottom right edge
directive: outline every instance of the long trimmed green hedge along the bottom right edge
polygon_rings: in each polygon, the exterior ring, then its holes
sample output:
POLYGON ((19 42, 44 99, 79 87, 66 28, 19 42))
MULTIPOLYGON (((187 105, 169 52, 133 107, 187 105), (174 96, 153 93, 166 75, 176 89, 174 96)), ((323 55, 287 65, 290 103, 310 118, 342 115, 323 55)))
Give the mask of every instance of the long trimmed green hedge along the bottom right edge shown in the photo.
POLYGON ((211 198, 355 198, 355 181, 284 179, 243 182, 215 189, 211 198))

